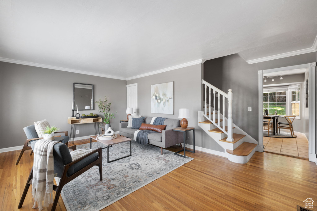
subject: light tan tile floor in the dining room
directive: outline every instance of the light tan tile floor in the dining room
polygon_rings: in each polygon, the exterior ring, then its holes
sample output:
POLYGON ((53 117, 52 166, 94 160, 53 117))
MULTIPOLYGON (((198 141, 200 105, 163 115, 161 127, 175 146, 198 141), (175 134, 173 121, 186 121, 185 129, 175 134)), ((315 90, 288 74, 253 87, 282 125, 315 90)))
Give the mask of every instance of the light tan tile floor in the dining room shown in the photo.
POLYGON ((264 152, 275 152, 294 157, 308 158, 308 140, 302 133, 297 138, 263 137, 264 152))

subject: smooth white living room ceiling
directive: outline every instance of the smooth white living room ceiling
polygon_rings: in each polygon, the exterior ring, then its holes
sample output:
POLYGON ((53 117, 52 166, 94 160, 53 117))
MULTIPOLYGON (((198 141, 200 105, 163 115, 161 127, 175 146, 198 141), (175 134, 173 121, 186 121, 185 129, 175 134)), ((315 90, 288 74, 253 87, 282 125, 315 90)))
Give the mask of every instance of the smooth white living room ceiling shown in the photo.
POLYGON ((130 78, 234 53, 257 59, 311 48, 316 8, 313 0, 2 0, 0 60, 130 78))

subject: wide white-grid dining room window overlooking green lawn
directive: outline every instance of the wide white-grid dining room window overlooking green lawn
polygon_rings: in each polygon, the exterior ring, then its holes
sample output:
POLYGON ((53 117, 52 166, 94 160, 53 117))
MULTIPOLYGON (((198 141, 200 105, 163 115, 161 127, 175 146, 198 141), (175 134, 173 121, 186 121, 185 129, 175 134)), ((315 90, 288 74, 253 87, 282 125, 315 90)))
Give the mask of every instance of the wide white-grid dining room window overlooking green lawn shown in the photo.
POLYGON ((264 92, 263 109, 268 108, 269 114, 286 115, 286 91, 264 92))

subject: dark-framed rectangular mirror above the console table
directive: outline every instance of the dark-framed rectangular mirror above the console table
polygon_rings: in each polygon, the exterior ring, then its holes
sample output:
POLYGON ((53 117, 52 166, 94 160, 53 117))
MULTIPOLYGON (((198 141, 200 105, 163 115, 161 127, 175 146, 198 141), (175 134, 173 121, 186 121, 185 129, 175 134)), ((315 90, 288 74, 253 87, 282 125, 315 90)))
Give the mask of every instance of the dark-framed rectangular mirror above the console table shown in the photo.
POLYGON ((94 85, 74 83, 74 109, 94 110, 94 85))

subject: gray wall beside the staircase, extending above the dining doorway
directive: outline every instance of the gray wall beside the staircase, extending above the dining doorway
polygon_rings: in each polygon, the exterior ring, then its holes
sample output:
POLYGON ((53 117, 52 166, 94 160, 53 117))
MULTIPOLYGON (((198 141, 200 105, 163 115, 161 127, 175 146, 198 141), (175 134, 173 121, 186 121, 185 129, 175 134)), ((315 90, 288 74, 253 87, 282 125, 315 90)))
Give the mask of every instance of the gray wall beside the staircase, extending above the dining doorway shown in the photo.
POLYGON ((258 140, 258 71, 316 61, 316 52, 256 64, 248 64, 233 54, 206 61, 204 80, 226 92, 232 89, 233 123, 258 140))

